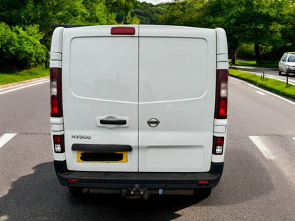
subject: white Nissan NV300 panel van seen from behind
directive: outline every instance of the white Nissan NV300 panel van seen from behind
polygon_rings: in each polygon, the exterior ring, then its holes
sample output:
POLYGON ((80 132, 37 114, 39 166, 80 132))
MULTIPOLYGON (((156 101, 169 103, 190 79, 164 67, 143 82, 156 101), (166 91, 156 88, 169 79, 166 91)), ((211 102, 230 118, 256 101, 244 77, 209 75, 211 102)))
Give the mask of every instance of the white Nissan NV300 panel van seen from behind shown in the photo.
POLYGON ((55 171, 73 193, 208 195, 221 179, 222 28, 57 27, 50 89, 55 171))

